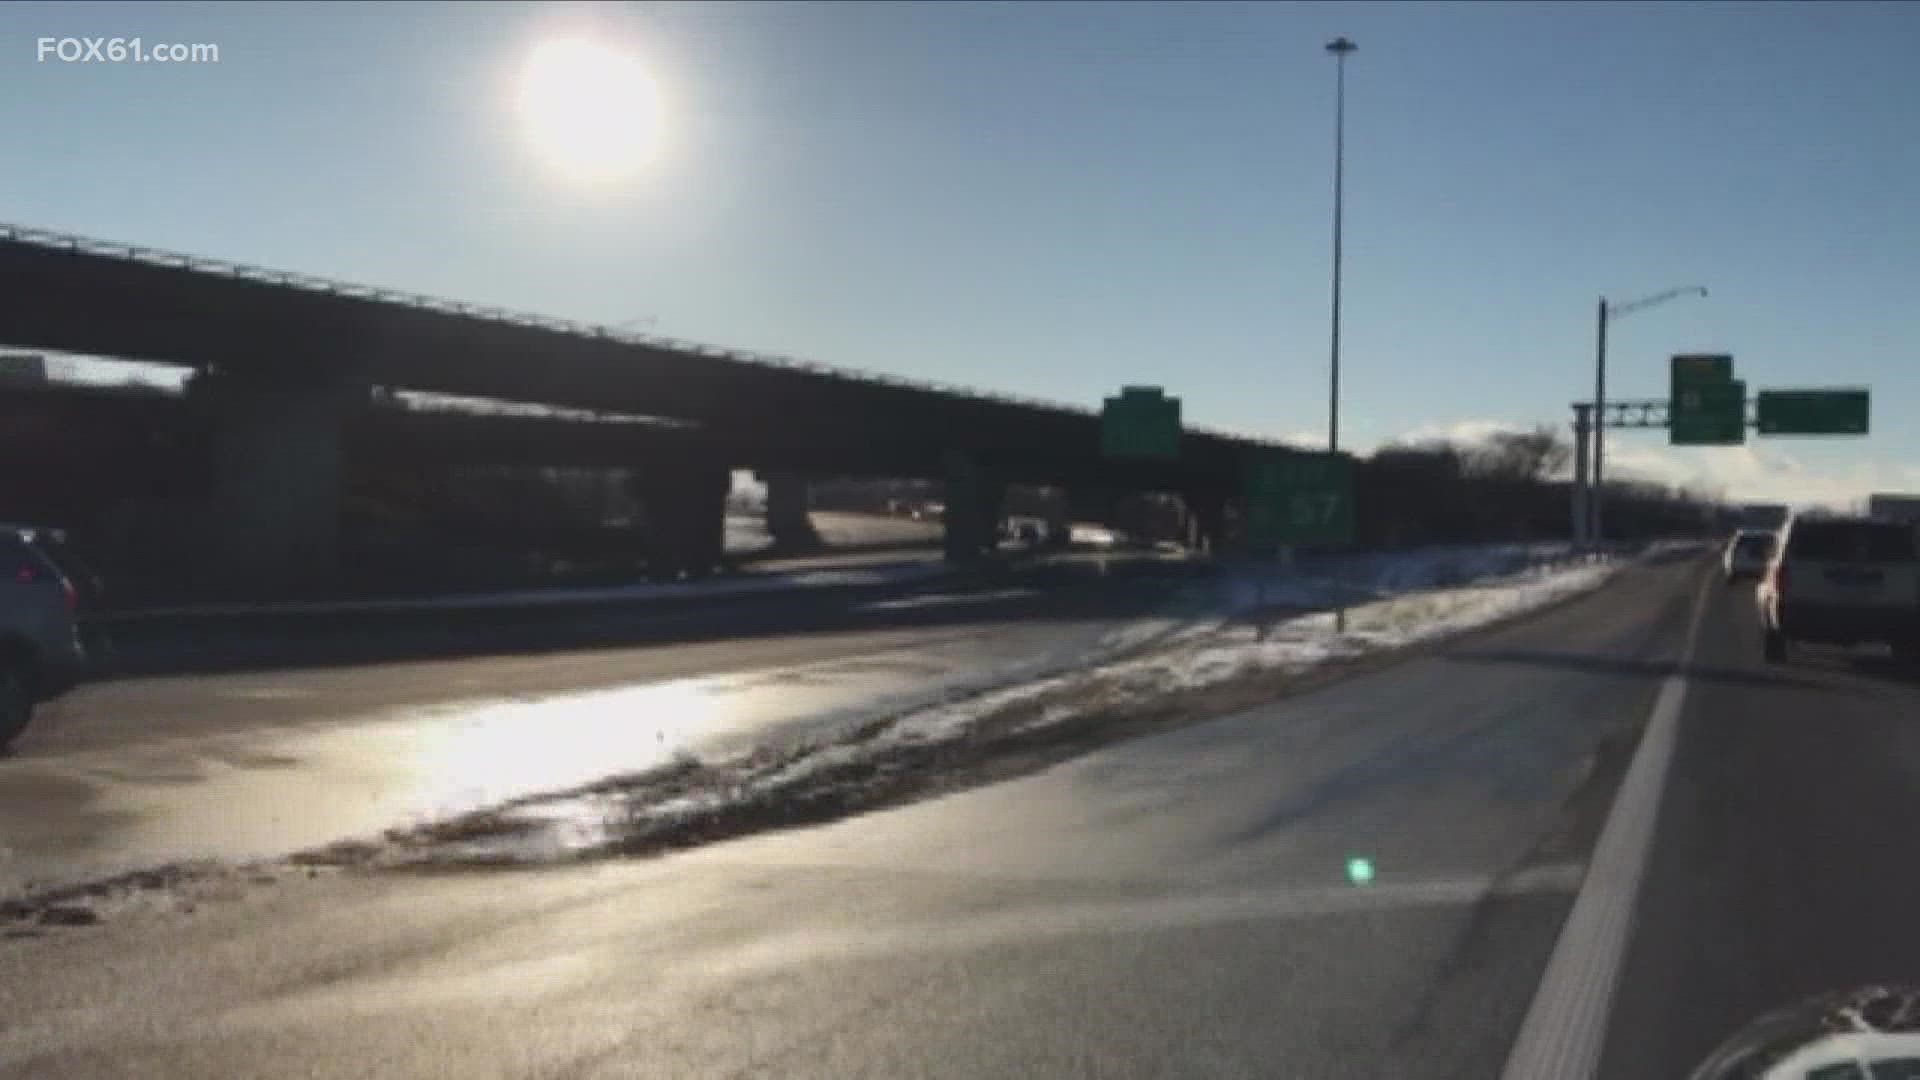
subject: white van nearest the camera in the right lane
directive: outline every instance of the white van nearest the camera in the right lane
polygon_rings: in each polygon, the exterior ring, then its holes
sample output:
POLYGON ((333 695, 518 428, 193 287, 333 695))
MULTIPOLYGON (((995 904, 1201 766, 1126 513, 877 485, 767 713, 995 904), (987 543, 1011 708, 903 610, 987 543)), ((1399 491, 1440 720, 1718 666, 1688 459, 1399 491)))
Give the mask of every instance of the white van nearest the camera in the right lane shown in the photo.
POLYGON ((1920 544, 1872 517, 1795 517, 1757 590, 1768 663, 1795 642, 1893 646, 1920 659, 1920 544))

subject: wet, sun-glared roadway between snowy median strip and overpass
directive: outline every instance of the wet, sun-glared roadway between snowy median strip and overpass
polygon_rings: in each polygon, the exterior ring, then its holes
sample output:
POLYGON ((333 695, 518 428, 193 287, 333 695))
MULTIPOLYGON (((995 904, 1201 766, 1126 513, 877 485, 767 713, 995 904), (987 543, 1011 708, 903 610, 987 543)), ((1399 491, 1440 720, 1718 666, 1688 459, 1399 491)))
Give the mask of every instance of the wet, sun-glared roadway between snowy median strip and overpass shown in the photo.
MULTIPOLYGON (((822 738, 1177 625, 1158 615, 1179 582, 1092 573, 490 625, 434 613, 386 642, 432 659, 252 671, 259 657, 242 650, 236 671, 88 684, 0 759, 0 899, 180 859, 282 855, 676 753, 822 738)), ((376 638, 344 642, 367 659, 376 638)), ((267 651, 301 650, 338 659, 328 642, 267 651)))

